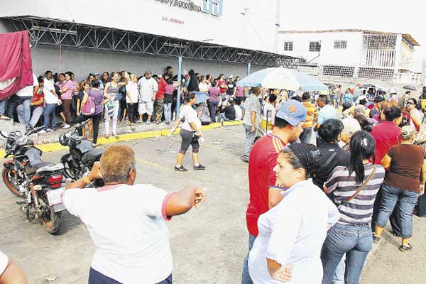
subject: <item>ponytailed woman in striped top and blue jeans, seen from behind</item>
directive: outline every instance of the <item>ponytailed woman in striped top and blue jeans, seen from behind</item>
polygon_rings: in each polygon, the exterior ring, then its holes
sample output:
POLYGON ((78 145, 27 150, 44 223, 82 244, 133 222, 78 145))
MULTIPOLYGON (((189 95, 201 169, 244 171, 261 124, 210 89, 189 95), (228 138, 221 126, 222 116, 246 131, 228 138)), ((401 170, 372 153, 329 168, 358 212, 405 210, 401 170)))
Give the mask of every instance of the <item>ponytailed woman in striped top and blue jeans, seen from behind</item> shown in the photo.
POLYGON ((354 133, 349 146, 349 166, 334 168, 324 184, 324 192, 332 194, 332 200, 341 217, 328 231, 322 246, 322 284, 332 283, 334 272, 344 253, 345 283, 359 283, 368 251, 373 246, 371 215, 376 194, 385 178, 385 169, 369 162, 374 155, 376 141, 368 132, 361 130, 354 133))

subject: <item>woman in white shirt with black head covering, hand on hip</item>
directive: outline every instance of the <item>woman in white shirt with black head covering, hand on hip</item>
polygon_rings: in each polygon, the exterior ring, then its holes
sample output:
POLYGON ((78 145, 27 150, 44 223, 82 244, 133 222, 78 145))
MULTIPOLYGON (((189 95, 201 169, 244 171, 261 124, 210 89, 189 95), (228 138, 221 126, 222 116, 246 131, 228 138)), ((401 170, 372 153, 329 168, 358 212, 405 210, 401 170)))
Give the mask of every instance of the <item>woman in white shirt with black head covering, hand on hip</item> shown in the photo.
POLYGON ((253 283, 321 283, 322 243, 340 216, 308 179, 321 163, 311 144, 291 144, 278 155, 274 171, 283 200, 258 219, 259 234, 249 253, 253 283))

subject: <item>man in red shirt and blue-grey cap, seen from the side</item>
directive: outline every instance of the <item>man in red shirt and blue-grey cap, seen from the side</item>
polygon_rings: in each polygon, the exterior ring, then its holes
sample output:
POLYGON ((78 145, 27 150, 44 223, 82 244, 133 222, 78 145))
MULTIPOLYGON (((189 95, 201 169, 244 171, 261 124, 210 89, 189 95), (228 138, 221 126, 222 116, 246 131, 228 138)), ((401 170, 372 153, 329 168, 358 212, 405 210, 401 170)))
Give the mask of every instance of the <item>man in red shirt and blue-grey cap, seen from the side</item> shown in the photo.
MULTIPOLYGON (((300 102, 290 99, 275 115, 272 133, 260 138, 251 148, 249 159, 250 202, 246 211, 249 229, 249 253, 258 235, 258 218, 282 199, 281 190, 270 188, 275 185, 275 172, 278 154, 287 143, 297 141, 306 119, 306 108, 300 102)), ((244 259, 242 284, 249 284, 251 278, 247 264, 249 254, 244 259)))

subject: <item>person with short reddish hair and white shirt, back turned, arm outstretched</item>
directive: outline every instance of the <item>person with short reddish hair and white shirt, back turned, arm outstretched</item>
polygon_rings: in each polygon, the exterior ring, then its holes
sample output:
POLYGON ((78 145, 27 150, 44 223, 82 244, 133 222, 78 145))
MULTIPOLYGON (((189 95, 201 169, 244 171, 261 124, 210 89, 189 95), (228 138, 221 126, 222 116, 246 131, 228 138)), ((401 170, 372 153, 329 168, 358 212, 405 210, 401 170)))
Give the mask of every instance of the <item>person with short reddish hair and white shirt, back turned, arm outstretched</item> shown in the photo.
POLYGON ((165 220, 184 214, 204 200, 195 186, 167 192, 153 185, 134 185, 135 153, 111 146, 87 177, 62 193, 68 212, 86 224, 97 250, 89 284, 172 283, 173 258, 165 220), (95 178, 105 186, 84 188, 95 178))

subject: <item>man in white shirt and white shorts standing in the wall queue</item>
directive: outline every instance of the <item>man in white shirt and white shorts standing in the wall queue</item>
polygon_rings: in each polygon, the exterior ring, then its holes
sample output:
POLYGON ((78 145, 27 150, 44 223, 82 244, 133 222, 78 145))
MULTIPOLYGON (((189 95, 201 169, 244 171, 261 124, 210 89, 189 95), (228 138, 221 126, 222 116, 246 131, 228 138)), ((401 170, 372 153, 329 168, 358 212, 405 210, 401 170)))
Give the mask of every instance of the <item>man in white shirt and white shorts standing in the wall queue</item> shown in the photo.
POLYGON ((138 81, 139 87, 139 122, 142 123, 143 114, 148 114, 146 124, 151 124, 151 116, 154 111, 155 95, 158 92, 158 83, 150 70, 145 71, 144 77, 138 81))

